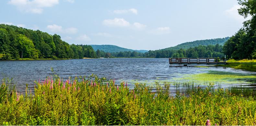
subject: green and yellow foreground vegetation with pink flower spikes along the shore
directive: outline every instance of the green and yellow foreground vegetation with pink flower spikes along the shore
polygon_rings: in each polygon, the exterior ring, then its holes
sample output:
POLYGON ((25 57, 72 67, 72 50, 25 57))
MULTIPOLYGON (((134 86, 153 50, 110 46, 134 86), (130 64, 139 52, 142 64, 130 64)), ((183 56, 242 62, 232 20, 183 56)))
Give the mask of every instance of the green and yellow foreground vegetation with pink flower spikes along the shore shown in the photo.
POLYGON ((36 82, 34 94, 26 89, 23 95, 8 83, 0 88, 0 125, 256 125, 252 93, 211 84, 176 84, 187 89, 170 96, 169 84, 129 89, 96 76, 48 77, 36 82))

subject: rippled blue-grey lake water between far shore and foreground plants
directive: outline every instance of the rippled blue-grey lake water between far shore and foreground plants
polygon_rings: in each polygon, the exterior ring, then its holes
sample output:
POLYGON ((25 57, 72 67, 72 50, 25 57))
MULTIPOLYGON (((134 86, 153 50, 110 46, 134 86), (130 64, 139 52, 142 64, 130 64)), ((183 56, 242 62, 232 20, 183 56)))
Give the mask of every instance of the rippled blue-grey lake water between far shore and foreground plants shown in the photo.
POLYGON ((128 81, 130 87, 134 82, 169 81, 182 78, 184 74, 207 73, 209 70, 235 73, 255 74, 233 68, 191 66, 170 66, 168 58, 104 58, 104 59, 70 59, 70 60, 6 60, 0 61, 0 79, 14 78, 17 91, 24 92, 26 83, 33 90, 34 81, 51 76, 52 71, 63 79, 93 74, 117 82, 128 81))

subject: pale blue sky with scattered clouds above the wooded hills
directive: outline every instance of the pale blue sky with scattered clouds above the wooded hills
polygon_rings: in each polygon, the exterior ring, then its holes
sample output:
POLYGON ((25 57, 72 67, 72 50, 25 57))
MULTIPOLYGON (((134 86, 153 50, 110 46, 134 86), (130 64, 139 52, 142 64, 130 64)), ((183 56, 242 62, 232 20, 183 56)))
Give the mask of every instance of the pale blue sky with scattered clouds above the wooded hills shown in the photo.
POLYGON ((58 34, 69 44, 156 50, 232 36, 236 0, 1 0, 0 23, 58 34))

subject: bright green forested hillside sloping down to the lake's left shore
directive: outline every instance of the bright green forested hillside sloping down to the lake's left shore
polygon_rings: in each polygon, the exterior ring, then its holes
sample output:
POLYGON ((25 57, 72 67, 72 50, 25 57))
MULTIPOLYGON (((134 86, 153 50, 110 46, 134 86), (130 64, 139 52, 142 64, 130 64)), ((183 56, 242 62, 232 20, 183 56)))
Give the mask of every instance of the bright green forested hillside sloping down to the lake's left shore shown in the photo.
POLYGON ((59 35, 0 24, 2 59, 19 58, 96 58, 91 46, 69 45, 59 35))

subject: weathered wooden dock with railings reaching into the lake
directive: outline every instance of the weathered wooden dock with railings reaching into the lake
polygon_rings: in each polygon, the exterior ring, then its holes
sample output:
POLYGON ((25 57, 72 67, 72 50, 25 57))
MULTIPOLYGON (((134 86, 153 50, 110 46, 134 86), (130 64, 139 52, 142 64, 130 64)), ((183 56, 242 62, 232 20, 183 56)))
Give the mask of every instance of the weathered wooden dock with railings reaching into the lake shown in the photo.
POLYGON ((171 65, 217 65, 227 64, 226 58, 169 58, 171 65))

